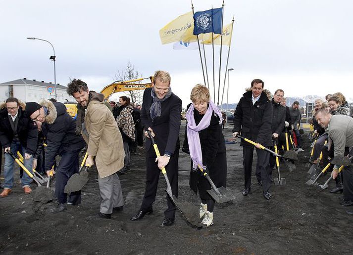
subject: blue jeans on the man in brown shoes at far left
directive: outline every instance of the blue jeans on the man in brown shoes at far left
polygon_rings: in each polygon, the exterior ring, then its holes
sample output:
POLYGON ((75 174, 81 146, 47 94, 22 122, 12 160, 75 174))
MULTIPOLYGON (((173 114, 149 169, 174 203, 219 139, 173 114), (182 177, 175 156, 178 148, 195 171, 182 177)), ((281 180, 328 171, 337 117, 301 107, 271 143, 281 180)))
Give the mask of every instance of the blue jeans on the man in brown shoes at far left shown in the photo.
MULTIPOLYGON (((17 151, 19 151, 23 157, 25 156, 26 149, 21 146, 20 142, 12 141, 11 152, 13 155, 15 155, 15 157, 16 157, 17 151)), ((28 160, 25 159, 23 165, 33 174, 32 160, 33 160, 32 158, 28 160)), ((5 153, 5 165, 3 166, 3 171, 4 171, 3 175, 5 178, 5 181, 3 186, 7 189, 12 189, 13 187, 14 162, 15 160, 8 153, 5 153)), ((28 174, 24 171, 21 178, 21 182, 22 182, 22 188, 26 186, 29 187, 32 182, 32 178, 29 177, 28 174)))

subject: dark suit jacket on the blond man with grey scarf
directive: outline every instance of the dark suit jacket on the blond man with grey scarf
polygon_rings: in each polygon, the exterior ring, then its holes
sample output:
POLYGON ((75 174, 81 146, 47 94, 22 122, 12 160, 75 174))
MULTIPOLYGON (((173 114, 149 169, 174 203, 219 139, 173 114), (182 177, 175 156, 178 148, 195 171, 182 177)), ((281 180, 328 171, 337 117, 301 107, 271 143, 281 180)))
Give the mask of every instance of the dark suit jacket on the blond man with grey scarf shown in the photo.
MULTIPOLYGON (((181 99, 175 94, 171 94, 169 98, 161 103, 161 114, 155 117, 152 121, 150 115, 150 108, 153 103, 151 96, 151 89, 147 88, 144 92, 143 104, 141 109, 141 122, 147 130, 149 127, 155 133, 154 140, 158 145, 160 155, 165 152, 171 154, 177 153, 180 148, 179 130, 180 130, 180 113, 181 113, 181 99)), ((147 151, 154 153, 151 146, 151 140, 146 139, 145 148, 147 151)))

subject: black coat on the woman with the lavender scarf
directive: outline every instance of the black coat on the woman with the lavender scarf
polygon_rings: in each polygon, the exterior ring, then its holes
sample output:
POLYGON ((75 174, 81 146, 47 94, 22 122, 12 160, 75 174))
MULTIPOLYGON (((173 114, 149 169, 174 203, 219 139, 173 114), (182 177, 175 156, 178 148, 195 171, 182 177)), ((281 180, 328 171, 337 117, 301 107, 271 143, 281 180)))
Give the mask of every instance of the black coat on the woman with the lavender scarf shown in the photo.
MULTIPOLYGON (((188 105, 187 109, 189 109, 190 105, 188 105)), ((194 109, 194 118, 196 125, 198 125, 203 115, 194 109)), ((183 151, 190 154, 186 130, 185 127, 183 151)), ((202 150, 202 164, 207 167, 209 176, 216 187, 225 187, 227 179, 226 145, 222 127, 219 124, 219 117, 218 115, 214 115, 214 112, 212 113, 209 126, 199 132, 199 137, 202 150)), ((209 190, 211 187, 206 178, 200 174, 200 170, 193 170, 193 163, 191 163, 190 170, 190 188, 196 193, 199 188, 200 197, 202 199, 210 199, 206 190, 209 190)))

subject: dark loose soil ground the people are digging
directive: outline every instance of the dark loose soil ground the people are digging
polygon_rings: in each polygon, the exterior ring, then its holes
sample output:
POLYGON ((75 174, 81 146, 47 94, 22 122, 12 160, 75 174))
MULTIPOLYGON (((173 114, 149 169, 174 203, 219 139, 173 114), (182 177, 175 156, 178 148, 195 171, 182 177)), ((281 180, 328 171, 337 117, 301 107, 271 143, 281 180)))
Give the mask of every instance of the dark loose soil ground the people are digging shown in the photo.
MULTIPOLYGON (((184 140, 185 122, 180 129, 184 140)), ((339 204, 340 194, 330 187, 321 190, 309 186, 305 164, 309 160, 310 141, 303 135, 303 152, 296 169, 290 172, 281 163, 286 186, 272 185, 272 198, 265 200, 252 165, 252 194, 242 196, 244 188, 243 150, 232 143, 232 127, 224 129, 227 141, 227 190, 236 200, 217 204, 214 224, 209 228, 190 225, 176 213, 173 226, 161 226, 166 208, 166 185, 160 175, 153 213, 138 221, 131 216, 140 209, 145 191, 145 150, 132 154, 131 170, 120 175, 125 205, 111 219, 97 216, 100 208, 98 173, 89 169, 89 181, 82 189, 79 206, 53 214, 53 203, 34 201, 34 193, 25 195, 19 184, 6 198, 0 198, 1 254, 352 254, 353 216, 339 204)), ((80 155, 82 161, 83 154, 80 155)), ((3 161, 4 162, 4 161, 3 161)), ((200 205, 198 195, 189 187, 190 157, 180 150, 180 202, 200 205)), ((16 168, 18 169, 18 168, 16 168)), ((3 172, 3 171, 2 171, 3 172)), ((321 176, 324 183, 330 173, 321 176)), ((277 177, 277 171, 273 171, 277 177)), ((333 187, 332 181, 330 186, 333 187)), ((35 189, 35 184, 33 188, 35 189)))

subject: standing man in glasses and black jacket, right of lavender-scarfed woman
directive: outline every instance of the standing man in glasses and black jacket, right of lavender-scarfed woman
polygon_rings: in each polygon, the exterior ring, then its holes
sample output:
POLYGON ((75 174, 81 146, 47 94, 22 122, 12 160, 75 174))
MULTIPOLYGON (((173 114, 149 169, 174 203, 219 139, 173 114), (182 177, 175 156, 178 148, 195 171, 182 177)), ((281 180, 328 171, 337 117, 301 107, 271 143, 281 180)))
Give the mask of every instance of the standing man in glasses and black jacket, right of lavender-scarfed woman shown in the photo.
MULTIPOLYGON (((263 196, 266 200, 271 198, 269 188, 271 179, 269 176, 269 159, 270 154, 260 149, 260 145, 265 147, 273 146, 272 142, 272 117, 273 109, 271 100, 267 98, 263 92, 264 83, 255 79, 251 83, 251 90, 244 93, 243 97, 237 105, 234 113, 233 136, 237 136, 240 132, 245 138, 256 142, 257 166, 261 173, 261 181, 263 188, 263 196)), ((251 193, 252 178, 252 157, 254 146, 242 139, 243 146, 243 165, 244 165, 244 190, 243 195, 248 196, 251 193)))

